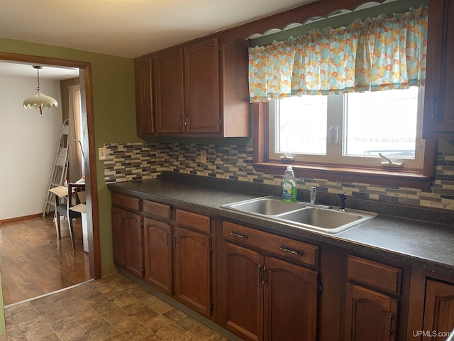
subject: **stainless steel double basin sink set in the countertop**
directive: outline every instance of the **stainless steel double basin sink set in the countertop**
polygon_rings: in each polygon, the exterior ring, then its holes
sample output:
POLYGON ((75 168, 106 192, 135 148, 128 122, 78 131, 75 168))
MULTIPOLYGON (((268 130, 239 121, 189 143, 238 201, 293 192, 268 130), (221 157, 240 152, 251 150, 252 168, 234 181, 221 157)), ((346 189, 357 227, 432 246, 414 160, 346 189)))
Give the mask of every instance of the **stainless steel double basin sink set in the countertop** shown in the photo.
POLYGON ((258 197, 255 199, 222 205, 228 210, 248 213, 258 217, 282 222, 303 229, 327 233, 338 233, 354 227, 377 214, 360 210, 337 210, 306 202, 284 202, 280 197, 258 197))

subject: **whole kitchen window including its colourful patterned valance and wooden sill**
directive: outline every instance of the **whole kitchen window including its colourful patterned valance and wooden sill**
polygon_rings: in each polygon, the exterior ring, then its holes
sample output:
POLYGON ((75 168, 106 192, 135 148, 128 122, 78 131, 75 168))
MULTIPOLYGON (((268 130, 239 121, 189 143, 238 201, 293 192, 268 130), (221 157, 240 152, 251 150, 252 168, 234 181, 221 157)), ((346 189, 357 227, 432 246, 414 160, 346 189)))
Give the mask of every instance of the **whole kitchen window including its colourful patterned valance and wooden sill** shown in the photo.
POLYGON ((299 178, 431 185, 436 141, 421 139, 428 8, 384 13, 249 49, 256 171, 282 175, 291 163, 299 178))

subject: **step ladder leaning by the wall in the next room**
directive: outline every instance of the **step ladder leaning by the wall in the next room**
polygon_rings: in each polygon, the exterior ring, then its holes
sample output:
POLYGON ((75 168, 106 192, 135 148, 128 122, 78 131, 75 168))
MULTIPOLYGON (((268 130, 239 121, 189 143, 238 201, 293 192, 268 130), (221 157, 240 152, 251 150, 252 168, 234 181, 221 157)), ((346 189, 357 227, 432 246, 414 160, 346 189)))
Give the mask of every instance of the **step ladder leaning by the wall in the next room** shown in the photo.
MULTIPOLYGON (((68 134, 70 131, 70 121, 65 120, 62 126, 62 134, 60 135, 60 141, 58 142, 57 153, 55 155, 55 162, 50 175, 49 190, 52 188, 63 185, 63 181, 66 178, 68 172, 68 134)), ((55 194, 48 191, 47 198, 45 200, 43 217, 49 215, 50 206, 55 207, 55 194)), ((55 208, 54 208, 55 211, 55 208)))

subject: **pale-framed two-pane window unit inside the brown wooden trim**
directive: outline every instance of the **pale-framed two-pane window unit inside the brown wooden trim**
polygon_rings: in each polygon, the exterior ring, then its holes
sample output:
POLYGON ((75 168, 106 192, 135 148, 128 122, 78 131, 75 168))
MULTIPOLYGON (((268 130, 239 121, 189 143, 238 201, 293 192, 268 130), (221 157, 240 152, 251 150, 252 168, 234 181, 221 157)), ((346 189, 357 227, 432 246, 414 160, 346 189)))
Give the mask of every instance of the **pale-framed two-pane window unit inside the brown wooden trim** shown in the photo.
POLYGON ((268 158, 421 170, 422 97, 423 87, 410 87, 273 100, 268 158))

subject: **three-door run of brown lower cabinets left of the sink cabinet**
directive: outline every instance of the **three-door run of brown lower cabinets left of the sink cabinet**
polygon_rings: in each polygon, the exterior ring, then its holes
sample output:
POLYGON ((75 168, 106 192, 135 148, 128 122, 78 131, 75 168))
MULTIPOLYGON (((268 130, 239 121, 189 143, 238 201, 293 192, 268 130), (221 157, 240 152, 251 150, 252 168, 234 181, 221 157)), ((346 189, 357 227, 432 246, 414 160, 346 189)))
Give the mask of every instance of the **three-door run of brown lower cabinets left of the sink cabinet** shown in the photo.
POLYGON ((210 217, 112 193, 114 263, 209 317, 210 217))

